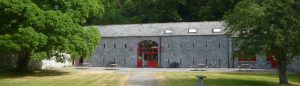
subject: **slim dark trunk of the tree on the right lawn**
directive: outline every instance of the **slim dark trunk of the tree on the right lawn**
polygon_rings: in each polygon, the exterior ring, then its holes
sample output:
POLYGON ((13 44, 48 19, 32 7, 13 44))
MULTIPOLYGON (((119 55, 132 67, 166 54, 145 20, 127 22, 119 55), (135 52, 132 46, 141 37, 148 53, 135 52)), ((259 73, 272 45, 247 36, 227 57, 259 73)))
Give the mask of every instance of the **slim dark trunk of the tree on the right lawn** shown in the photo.
POLYGON ((278 61, 278 74, 279 74, 279 84, 288 84, 287 79, 287 62, 285 60, 278 61))

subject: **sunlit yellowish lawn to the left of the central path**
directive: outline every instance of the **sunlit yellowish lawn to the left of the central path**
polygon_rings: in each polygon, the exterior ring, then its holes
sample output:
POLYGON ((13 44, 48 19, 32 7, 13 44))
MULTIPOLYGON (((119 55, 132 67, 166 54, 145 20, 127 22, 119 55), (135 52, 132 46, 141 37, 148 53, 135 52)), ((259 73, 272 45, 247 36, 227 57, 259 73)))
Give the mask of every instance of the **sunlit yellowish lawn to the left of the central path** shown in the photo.
POLYGON ((75 69, 0 74, 0 86, 121 86, 124 80, 126 77, 114 72, 75 69))

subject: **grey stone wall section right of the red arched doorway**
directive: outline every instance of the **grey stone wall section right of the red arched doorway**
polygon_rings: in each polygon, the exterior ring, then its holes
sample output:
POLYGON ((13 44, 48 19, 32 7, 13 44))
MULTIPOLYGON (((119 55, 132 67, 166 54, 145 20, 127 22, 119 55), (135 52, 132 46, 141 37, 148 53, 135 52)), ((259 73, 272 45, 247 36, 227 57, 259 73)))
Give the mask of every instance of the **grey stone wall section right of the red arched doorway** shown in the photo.
POLYGON ((166 36, 162 37, 162 67, 171 62, 181 67, 207 64, 210 68, 228 67, 228 41, 226 36, 166 36), (180 62, 181 61, 181 62, 180 62))

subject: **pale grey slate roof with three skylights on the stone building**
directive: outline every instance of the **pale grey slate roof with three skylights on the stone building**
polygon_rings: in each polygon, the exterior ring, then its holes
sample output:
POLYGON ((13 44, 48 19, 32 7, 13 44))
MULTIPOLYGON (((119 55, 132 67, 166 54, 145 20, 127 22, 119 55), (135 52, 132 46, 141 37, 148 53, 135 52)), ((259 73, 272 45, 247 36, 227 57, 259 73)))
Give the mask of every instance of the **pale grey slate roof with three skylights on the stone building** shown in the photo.
POLYGON ((100 25, 102 37, 125 36, 178 36, 178 35, 224 35, 223 22, 178 22, 178 23, 150 23, 150 24, 124 24, 124 25, 100 25), (196 29, 196 33, 189 33, 189 29, 196 29), (220 33, 214 33, 213 29, 221 29, 220 33), (165 30, 172 33, 166 34, 165 30))

